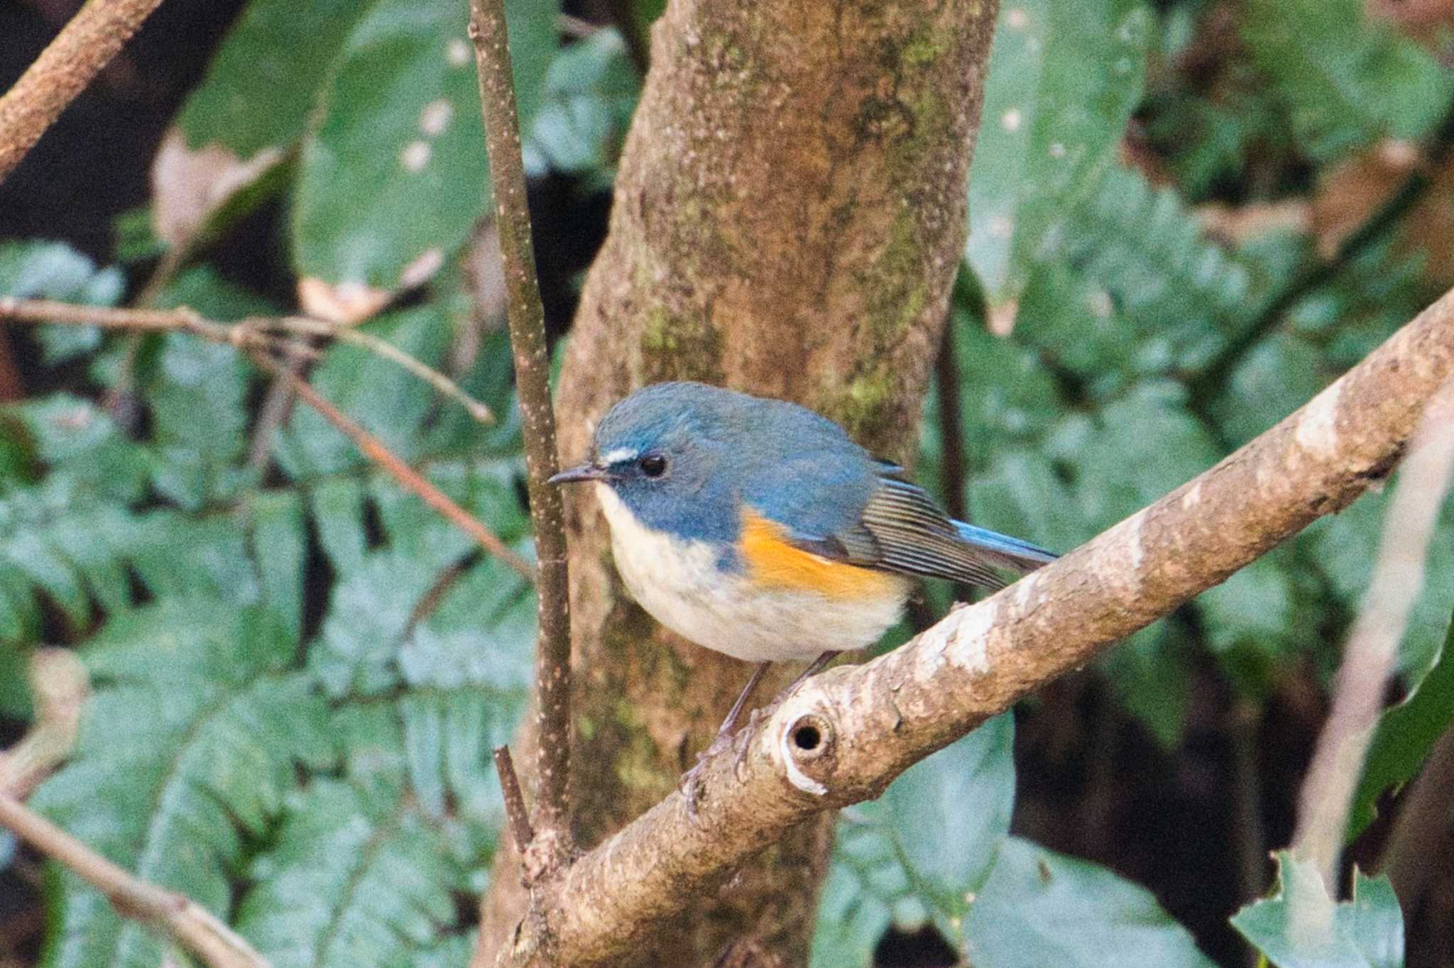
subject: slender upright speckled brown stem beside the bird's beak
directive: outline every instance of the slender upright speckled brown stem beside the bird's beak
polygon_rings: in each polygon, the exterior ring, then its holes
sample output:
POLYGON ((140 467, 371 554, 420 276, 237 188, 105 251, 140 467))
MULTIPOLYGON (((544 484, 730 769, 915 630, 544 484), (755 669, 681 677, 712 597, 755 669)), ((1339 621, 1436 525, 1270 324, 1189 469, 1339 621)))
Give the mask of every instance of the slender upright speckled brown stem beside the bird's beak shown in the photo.
POLYGON ((535 650, 535 828, 544 837, 545 868, 571 853, 570 834, 570 593, 566 576, 566 519, 560 491, 547 480, 558 469, 555 413, 550 397, 545 310, 535 279, 531 214, 521 158, 521 122, 515 108, 503 0, 470 0, 470 39, 480 74, 484 141, 490 156, 500 259, 505 263, 506 318, 521 398, 521 432, 535 526, 539 578, 535 650))

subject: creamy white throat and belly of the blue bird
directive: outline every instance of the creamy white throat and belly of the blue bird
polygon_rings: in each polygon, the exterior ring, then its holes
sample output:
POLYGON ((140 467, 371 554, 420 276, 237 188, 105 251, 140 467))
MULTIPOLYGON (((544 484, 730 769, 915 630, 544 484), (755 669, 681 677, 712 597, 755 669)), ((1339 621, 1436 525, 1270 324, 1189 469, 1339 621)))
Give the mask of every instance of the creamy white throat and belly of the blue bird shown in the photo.
POLYGON ((598 483, 596 494, 611 525, 616 571, 641 608, 678 635, 733 658, 807 660, 862 648, 903 609, 907 581, 871 600, 755 587, 746 574, 718 571, 712 545, 643 528, 606 484, 598 483))

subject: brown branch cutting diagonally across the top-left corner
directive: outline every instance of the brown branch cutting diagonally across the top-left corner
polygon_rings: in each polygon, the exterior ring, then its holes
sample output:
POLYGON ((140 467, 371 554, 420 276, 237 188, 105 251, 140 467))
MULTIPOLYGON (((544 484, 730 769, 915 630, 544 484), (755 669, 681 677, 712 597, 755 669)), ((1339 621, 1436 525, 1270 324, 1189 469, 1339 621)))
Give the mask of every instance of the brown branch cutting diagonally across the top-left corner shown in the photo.
POLYGON ((0 182, 161 0, 89 0, 0 97, 0 182))

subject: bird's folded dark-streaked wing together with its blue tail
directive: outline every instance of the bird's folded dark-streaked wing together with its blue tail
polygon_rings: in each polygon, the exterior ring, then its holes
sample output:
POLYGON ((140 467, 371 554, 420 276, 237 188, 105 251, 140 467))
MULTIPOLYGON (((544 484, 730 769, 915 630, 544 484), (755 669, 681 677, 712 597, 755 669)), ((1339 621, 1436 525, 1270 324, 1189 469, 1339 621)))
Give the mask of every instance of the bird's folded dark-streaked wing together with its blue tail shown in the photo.
POLYGON ((1021 574, 1056 555, 984 528, 952 520, 891 464, 880 464, 878 487, 858 522, 827 536, 795 535, 804 551, 868 568, 1005 587, 995 568, 1021 574))

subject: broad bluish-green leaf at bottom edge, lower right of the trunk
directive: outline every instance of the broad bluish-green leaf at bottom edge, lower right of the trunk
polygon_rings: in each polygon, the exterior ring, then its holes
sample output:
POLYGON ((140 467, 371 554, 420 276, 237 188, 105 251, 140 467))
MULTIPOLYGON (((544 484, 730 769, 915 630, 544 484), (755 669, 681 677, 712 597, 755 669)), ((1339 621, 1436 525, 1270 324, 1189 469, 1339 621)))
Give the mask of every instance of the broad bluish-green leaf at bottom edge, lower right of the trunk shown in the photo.
POLYGON ((976 968, 1213 968, 1149 891, 1009 837, 964 926, 976 968))

